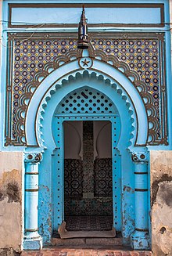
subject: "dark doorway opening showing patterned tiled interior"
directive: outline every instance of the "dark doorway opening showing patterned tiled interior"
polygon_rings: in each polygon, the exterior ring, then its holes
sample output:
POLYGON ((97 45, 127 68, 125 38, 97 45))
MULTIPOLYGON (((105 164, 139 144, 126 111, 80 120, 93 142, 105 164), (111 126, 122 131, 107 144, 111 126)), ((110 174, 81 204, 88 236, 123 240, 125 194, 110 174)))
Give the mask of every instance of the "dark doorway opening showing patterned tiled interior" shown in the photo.
POLYGON ((65 121, 63 128, 66 230, 111 230, 113 227, 111 123, 65 121))

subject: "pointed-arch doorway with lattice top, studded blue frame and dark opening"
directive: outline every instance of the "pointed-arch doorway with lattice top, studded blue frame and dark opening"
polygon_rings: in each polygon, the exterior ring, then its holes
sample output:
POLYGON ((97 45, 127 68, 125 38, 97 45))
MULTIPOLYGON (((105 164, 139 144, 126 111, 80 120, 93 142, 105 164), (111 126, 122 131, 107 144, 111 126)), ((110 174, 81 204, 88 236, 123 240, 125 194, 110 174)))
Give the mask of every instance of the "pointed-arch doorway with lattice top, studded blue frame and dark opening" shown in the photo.
POLYGON ((68 222, 67 227, 73 230, 103 230, 114 226, 120 231, 120 168, 119 153, 116 151, 120 117, 116 106, 101 92, 84 87, 67 95, 59 103, 55 116, 57 143, 62 145, 57 159, 57 171, 63 170, 62 175, 57 175, 60 179, 54 183, 59 184, 58 189, 53 189, 55 231, 64 220, 68 222), (72 130, 77 134, 75 139, 74 135, 70 137, 72 130), (107 131, 109 135, 106 135, 107 131), (95 141, 93 132, 97 133, 95 141), (103 138, 105 135, 106 139, 103 138), (104 143, 104 149, 99 149, 103 143, 101 140, 105 142, 108 136, 109 145, 104 143), (60 209, 55 191, 60 190, 61 184, 64 184, 64 194, 60 209), (103 215, 109 218, 109 222, 91 228, 90 223, 94 219, 97 219, 97 223, 101 222, 103 215), (78 222, 79 218, 82 220, 81 226, 73 226, 73 220, 77 218, 78 222), (87 223, 84 225, 85 220, 87 223))

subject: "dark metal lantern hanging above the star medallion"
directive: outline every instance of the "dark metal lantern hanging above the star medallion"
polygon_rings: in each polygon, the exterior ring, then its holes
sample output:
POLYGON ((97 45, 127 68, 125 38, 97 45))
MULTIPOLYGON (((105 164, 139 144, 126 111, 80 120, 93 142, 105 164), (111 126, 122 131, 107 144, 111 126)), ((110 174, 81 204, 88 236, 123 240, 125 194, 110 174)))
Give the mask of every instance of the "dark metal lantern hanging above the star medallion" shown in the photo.
POLYGON ((88 25, 87 19, 84 15, 84 5, 82 7, 81 20, 78 27, 78 41, 77 41, 78 49, 88 49, 88 25))

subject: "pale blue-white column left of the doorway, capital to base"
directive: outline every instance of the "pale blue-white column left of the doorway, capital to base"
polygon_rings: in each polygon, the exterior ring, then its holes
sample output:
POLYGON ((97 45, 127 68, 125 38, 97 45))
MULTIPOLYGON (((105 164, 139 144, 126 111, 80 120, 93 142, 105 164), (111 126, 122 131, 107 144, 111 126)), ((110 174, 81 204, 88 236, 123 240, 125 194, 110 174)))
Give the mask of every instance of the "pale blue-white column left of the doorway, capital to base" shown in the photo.
POLYGON ((25 153, 25 218, 24 250, 40 250, 41 236, 38 234, 38 164, 41 153, 25 153))

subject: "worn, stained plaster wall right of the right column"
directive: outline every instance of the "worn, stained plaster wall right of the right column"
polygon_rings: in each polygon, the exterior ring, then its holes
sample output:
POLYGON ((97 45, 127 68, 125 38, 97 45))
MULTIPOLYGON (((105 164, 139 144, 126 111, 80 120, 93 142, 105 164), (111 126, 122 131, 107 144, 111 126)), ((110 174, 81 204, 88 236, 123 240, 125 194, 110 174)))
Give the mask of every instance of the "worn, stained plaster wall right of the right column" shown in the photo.
POLYGON ((151 151, 152 251, 172 255, 172 151, 151 151))

